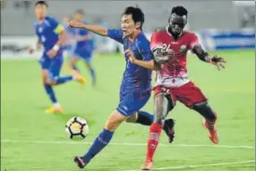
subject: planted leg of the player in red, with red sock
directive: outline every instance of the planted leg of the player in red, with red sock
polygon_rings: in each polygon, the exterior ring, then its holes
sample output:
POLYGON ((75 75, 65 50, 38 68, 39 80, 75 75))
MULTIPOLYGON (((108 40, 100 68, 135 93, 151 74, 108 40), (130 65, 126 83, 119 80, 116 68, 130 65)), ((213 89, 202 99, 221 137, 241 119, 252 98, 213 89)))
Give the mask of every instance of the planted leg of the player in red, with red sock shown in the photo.
POLYGON ((147 158, 145 163, 142 165, 142 170, 151 170, 153 167, 153 156, 157 149, 159 138, 164 126, 164 119, 168 112, 171 111, 175 104, 171 98, 167 98, 165 93, 159 93, 154 98, 154 113, 155 120, 149 129, 149 140, 147 158))

